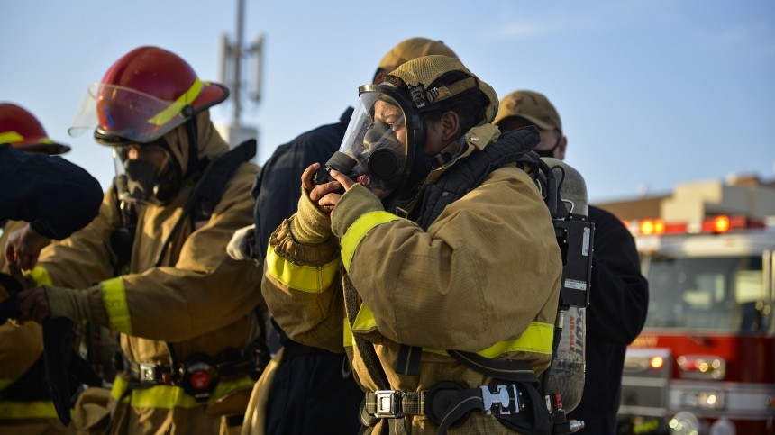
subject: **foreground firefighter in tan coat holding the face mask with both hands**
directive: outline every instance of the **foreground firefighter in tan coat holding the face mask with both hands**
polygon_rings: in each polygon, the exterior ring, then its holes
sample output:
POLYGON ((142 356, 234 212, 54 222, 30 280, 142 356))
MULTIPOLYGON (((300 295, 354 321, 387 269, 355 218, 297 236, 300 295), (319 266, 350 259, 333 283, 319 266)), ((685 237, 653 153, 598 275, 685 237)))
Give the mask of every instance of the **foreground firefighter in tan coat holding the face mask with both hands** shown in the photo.
POLYGON ((373 433, 549 433, 536 376, 561 253, 537 131, 497 140, 495 91, 446 56, 359 93, 342 147, 305 169, 269 239, 270 312, 291 339, 348 353, 373 433))

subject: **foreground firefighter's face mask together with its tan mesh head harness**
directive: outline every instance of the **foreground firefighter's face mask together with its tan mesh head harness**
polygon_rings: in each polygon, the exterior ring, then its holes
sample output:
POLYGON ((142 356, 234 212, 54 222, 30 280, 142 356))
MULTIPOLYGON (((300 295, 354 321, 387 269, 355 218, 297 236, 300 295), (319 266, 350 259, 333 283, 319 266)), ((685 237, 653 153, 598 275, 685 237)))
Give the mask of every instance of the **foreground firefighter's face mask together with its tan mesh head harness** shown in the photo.
POLYGON ((439 55, 406 62, 382 84, 360 86, 360 104, 342 146, 317 174, 315 182, 330 180, 326 172, 333 168, 368 186, 383 199, 414 185, 430 169, 431 156, 424 154, 426 116, 443 110, 443 104, 451 98, 477 88, 488 96, 487 112, 494 115, 495 92, 473 76, 460 60, 439 55), (465 77, 450 85, 436 86, 439 78, 454 71, 464 73, 465 77))

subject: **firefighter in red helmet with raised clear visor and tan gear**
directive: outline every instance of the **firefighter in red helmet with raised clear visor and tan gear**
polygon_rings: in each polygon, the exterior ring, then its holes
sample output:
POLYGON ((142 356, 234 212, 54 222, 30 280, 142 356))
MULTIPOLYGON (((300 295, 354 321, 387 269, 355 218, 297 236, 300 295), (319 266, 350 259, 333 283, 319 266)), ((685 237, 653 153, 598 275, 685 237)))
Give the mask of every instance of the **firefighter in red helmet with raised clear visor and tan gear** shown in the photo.
POLYGON ((111 408, 88 389, 78 429, 239 430, 263 342, 260 275, 223 249, 251 223, 258 168, 247 162, 255 141, 229 150, 210 120, 227 96, 177 54, 140 47, 89 88, 70 129, 112 147, 118 173, 95 221, 43 250, 32 271, 41 286, 17 306, 23 319, 121 333, 111 408))

